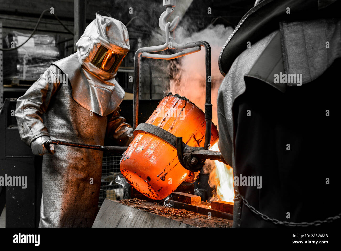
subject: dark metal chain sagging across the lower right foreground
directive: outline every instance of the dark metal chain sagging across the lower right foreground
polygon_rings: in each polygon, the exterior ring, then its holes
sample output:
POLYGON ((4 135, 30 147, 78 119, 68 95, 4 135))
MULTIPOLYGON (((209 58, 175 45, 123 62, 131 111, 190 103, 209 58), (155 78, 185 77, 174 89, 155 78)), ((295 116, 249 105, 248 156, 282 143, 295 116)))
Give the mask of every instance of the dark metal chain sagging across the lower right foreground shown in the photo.
POLYGON ((329 223, 329 222, 332 222, 334 220, 340 219, 340 217, 341 217, 341 213, 339 213, 339 214, 335 215, 334 217, 328 217, 323 221, 299 222, 299 223, 288 222, 288 221, 279 221, 277 219, 272 219, 272 218, 268 217, 267 215, 261 213, 260 211, 255 209, 253 206, 251 206, 249 204, 249 202, 241 194, 238 193, 237 190, 235 190, 235 192, 237 193, 236 198, 242 199, 244 205, 247 206, 253 213, 255 213, 256 215, 260 215, 262 217, 262 219, 265 221, 270 221, 270 222, 272 222, 274 224, 278 224, 278 225, 291 226, 291 227, 319 226, 323 223, 329 223))

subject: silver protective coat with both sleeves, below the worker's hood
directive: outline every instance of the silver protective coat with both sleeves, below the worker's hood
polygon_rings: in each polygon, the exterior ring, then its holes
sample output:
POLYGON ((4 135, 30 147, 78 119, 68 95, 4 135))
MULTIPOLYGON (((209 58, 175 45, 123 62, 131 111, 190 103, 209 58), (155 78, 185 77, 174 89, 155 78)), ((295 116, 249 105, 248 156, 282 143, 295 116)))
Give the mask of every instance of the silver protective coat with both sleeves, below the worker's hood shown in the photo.
MULTIPOLYGON (((108 116, 83 108, 73 99, 70 83, 48 81, 61 73, 51 65, 17 99, 15 114, 21 139, 28 145, 41 136, 103 145, 104 138, 109 137, 118 145, 129 144, 132 128, 119 115, 119 107, 108 116)), ((39 226, 91 227, 98 207, 103 152, 64 145, 55 145, 55 150, 54 155, 43 156, 39 226)))

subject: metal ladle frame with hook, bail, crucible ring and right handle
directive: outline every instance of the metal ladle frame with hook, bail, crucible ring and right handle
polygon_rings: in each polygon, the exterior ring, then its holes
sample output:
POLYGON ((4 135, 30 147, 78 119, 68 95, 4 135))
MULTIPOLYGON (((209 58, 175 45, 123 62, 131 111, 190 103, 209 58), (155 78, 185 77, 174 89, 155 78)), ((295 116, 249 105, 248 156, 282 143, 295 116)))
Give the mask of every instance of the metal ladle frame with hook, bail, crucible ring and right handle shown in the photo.
MULTIPOLYGON (((135 52, 134 57, 134 105, 133 105, 133 129, 134 135, 138 132, 143 132, 142 128, 148 128, 148 133, 157 138, 162 139, 169 145, 176 147, 178 153, 179 163, 186 169, 191 171, 198 171, 202 168, 205 159, 217 159, 224 162, 220 152, 207 150, 211 141, 211 127, 212 127, 212 103, 211 103, 211 47, 206 41, 197 41, 190 43, 176 43, 175 42, 175 28, 179 22, 179 16, 175 17, 172 22, 167 22, 167 19, 174 12, 175 0, 163 0, 163 6, 166 7, 159 18, 159 27, 162 31, 165 31, 166 42, 163 45, 142 47, 135 52), (201 47, 205 48, 205 70, 206 70, 206 91, 205 91, 205 143, 202 147, 189 147, 182 142, 182 137, 176 137, 176 143, 173 140, 168 131, 162 128, 154 128, 147 126, 145 123, 138 124, 138 94, 139 94, 139 71, 140 71, 140 57, 169 60, 185 55, 195 53, 201 50, 201 47), (167 49, 183 50, 178 53, 165 55, 165 54, 153 54, 151 52, 160 52, 167 49), (161 130, 160 130, 161 129, 161 130), (167 132, 167 133, 166 133, 167 132), (165 137, 168 135, 169 137, 165 137)), ((175 136, 174 136, 175 137, 175 136)))

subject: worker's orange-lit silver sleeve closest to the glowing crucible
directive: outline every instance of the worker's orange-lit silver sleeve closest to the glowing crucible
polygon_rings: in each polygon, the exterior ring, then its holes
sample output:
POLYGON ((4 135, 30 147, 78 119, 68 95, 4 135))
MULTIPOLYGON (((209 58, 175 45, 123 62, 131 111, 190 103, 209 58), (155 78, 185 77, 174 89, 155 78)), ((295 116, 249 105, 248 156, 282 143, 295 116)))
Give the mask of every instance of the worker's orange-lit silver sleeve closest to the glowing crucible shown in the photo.
POLYGON ((115 145, 125 147, 133 140, 133 128, 125 123, 125 118, 119 114, 118 107, 108 121, 106 137, 114 140, 115 145))

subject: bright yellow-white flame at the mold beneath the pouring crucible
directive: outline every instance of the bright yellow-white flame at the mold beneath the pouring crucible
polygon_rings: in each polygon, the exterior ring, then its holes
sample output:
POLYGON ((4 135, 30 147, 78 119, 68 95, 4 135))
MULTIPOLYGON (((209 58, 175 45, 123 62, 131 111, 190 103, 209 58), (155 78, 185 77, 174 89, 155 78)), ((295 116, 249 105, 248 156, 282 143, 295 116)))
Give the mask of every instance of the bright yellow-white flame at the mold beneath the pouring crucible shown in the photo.
MULTIPOLYGON (((210 150, 219 151, 218 143, 214 144, 210 150)), ((233 169, 220 161, 214 161, 214 164, 216 164, 216 166, 210 172, 209 184, 210 186, 215 186, 216 199, 233 202, 233 169)), ((211 200, 215 200, 214 196, 211 200)))

